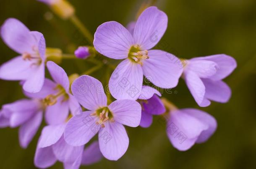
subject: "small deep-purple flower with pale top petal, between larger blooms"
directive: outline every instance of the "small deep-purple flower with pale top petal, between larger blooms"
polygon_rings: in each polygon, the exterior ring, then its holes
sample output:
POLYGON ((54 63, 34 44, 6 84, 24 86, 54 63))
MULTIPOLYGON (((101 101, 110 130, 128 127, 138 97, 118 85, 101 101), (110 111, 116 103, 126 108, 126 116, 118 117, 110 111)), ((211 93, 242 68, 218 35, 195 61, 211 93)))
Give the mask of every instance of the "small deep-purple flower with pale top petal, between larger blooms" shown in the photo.
POLYGON ((158 96, 161 93, 149 86, 142 86, 138 102, 141 104, 141 127, 149 127, 153 121, 153 115, 165 113, 165 106, 158 96))

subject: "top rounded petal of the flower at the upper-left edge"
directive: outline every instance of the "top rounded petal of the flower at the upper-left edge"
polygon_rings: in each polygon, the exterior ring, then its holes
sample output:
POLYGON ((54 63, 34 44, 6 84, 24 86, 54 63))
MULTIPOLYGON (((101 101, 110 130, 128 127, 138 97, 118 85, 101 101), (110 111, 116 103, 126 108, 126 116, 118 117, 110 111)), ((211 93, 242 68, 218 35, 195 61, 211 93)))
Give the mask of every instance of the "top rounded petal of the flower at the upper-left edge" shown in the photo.
POLYGON ((31 53, 36 40, 30 34, 29 29, 15 18, 5 20, 1 27, 3 41, 17 53, 31 53))

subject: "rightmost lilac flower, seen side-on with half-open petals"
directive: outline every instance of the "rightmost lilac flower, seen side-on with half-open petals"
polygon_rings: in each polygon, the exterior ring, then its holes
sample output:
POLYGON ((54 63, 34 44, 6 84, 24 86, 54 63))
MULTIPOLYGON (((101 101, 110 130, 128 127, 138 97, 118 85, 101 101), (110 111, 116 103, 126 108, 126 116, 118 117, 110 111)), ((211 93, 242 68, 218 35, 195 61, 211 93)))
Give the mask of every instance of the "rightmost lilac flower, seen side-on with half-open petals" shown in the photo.
POLYGON ((231 90, 222 79, 230 75, 236 66, 235 59, 225 54, 188 60, 183 78, 196 103, 206 107, 211 104, 210 100, 229 101, 231 90))

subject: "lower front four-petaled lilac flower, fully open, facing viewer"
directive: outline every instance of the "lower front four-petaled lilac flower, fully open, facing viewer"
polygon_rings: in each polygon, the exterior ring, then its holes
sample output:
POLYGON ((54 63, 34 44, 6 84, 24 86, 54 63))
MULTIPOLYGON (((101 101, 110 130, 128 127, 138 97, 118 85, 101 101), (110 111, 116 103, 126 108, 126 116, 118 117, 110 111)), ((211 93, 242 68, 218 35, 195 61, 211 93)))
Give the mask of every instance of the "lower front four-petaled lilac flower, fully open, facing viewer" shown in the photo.
POLYGON ((91 76, 77 78, 71 90, 88 111, 68 121, 64 131, 65 141, 72 146, 81 146, 99 132, 99 148, 103 156, 118 160, 129 144, 123 125, 137 127, 140 124, 140 104, 132 100, 117 100, 107 106, 102 83, 91 76))

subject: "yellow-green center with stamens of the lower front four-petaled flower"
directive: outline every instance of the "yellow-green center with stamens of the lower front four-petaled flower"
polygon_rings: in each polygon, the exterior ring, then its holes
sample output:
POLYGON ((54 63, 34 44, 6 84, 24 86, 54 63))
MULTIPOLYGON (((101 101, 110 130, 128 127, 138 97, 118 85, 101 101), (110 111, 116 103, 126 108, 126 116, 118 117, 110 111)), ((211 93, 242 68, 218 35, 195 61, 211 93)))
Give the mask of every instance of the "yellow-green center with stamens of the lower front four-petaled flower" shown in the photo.
POLYGON ((110 120, 110 122, 115 122, 113 114, 108 107, 99 108, 91 116, 99 116, 99 121, 96 122, 97 125, 101 125, 102 128, 105 127, 104 122, 110 120))

